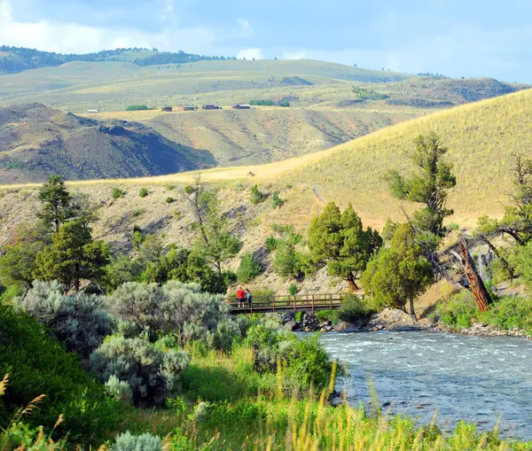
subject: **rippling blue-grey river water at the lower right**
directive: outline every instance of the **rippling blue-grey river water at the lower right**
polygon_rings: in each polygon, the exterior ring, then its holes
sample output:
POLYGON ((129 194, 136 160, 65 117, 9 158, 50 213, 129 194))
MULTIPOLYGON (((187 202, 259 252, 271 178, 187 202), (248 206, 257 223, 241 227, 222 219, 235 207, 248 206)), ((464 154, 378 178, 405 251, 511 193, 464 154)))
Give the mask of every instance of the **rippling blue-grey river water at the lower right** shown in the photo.
POLYGON ((458 420, 504 436, 532 439, 532 341, 442 332, 330 333, 327 352, 347 364, 348 401, 369 398, 368 377, 394 413, 452 429, 458 420))

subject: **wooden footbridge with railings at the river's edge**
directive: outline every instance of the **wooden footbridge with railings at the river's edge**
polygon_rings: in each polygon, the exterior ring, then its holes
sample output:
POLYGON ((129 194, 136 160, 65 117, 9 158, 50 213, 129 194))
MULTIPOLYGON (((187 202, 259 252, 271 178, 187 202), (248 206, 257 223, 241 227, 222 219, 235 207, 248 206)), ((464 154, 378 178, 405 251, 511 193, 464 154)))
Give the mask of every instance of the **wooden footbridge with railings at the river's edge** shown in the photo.
POLYGON ((295 294, 293 296, 277 295, 272 296, 254 296, 251 305, 244 302, 243 307, 239 307, 237 299, 226 299, 230 305, 231 314, 246 313, 275 313, 275 312, 297 312, 316 310, 332 310, 339 308, 347 294, 295 294))

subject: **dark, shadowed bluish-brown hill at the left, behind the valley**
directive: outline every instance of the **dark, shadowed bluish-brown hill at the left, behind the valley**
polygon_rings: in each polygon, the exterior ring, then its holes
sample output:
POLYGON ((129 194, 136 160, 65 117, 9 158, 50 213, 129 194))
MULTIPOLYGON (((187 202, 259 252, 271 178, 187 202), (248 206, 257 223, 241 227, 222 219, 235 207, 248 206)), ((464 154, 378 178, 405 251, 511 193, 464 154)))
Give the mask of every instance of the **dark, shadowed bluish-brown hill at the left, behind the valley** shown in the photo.
MULTIPOLYGON (((198 156, 196 156, 198 155, 198 156)), ((135 122, 94 121, 42 104, 0 107, 4 183, 168 174, 203 165, 191 152, 135 122)))

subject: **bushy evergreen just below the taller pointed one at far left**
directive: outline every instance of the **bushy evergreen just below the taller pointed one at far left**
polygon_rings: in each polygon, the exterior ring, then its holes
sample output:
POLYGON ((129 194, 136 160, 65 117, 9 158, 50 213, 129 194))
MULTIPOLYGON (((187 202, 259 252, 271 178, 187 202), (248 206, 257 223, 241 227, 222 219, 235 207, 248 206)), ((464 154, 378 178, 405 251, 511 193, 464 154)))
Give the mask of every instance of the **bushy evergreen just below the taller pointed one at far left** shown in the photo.
POLYGON ((65 291, 78 292, 83 279, 96 279, 104 273, 109 246, 94 241, 90 229, 81 222, 66 222, 52 237, 52 244, 37 253, 34 276, 40 280, 59 280, 65 291))

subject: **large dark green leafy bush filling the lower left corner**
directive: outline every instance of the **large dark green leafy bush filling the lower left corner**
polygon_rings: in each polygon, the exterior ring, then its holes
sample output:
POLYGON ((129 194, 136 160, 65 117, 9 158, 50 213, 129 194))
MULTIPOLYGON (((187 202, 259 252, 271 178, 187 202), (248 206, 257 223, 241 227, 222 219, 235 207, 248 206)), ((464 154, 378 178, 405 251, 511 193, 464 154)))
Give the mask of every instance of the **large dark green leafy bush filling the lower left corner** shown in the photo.
POLYGON ((75 354, 50 337, 43 325, 26 313, 0 303, 0 375, 10 375, 9 390, 0 398, 0 418, 13 413, 42 394, 45 398, 25 422, 51 431, 59 415, 64 422, 54 437, 68 432, 72 443, 101 445, 108 432, 123 421, 120 403, 106 397, 86 373, 75 354))

